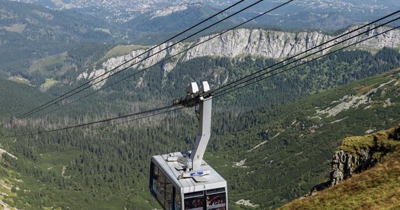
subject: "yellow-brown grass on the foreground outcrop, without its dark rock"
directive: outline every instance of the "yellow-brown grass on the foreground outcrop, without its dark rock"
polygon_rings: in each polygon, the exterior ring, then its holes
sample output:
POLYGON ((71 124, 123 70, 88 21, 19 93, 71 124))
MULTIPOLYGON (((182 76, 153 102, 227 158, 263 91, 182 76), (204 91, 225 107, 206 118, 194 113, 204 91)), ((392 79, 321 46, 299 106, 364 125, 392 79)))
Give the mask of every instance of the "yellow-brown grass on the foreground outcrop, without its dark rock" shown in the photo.
MULTIPOLYGON (((398 130, 400 125, 397 126, 398 130)), ((375 167, 356 174, 314 196, 295 200, 282 209, 399 209, 400 208, 400 141, 388 137, 394 129, 343 141, 343 149, 354 153, 371 146, 371 137, 378 145, 392 148, 375 167)))

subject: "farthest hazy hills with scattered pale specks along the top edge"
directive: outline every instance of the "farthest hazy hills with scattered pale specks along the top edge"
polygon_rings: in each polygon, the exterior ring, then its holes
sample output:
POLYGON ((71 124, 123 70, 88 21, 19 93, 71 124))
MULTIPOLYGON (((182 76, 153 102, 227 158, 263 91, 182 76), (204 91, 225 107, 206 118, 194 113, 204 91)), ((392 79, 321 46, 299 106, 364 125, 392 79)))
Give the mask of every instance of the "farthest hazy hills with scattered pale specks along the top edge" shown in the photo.
MULTIPOLYGON (((140 17, 146 13, 157 13, 159 10, 173 10, 171 6, 202 4, 215 9, 226 8, 236 1, 219 1, 219 0, 197 0, 197 1, 177 1, 177 0, 25 0, 22 2, 34 3, 48 8, 60 10, 79 10, 82 13, 88 13, 95 17, 110 22, 127 22, 140 17)), ((255 1, 245 1, 243 4, 248 5, 255 1)), ((234 20, 242 20, 243 18, 251 18, 258 13, 265 12, 274 6, 285 1, 267 0, 258 3, 245 13, 241 13, 234 20)), ((305 0, 293 1, 284 8, 276 10, 276 12, 266 15, 253 22, 255 25, 283 27, 286 29, 299 29, 303 27, 317 29, 340 29, 348 27, 352 24, 371 21, 373 18, 382 14, 393 12, 393 8, 399 8, 399 1, 374 1, 374 0, 305 0)), ((233 13, 241 6, 236 6, 227 13, 233 13)), ((174 12, 177 12, 175 10, 174 12)), ((187 20, 187 18, 185 18, 187 20)))

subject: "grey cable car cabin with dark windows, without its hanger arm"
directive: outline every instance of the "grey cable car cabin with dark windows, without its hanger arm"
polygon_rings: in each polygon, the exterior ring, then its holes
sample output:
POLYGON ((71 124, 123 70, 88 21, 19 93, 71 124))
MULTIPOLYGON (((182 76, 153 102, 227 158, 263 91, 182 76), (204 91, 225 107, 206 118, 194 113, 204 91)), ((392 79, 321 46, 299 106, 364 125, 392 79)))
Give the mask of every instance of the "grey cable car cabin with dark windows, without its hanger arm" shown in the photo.
POLYGON ((203 162, 202 169, 210 174, 179 178, 182 165, 168 161, 168 157, 182 155, 156 155, 150 167, 150 192, 164 209, 227 209, 227 181, 203 162))

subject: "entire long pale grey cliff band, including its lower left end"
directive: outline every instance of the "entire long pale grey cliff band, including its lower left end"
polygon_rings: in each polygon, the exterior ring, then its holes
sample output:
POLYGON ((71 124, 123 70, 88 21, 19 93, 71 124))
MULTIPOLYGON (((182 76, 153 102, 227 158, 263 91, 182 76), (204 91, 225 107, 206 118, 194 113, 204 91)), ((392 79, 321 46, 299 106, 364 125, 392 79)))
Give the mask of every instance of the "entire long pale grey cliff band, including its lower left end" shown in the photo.
MULTIPOLYGON (((351 29, 352 28, 349 28, 348 30, 351 29)), ((374 34, 379 34, 385 30, 385 28, 379 28, 369 31, 364 34, 364 36, 352 39, 350 43, 355 43, 356 41, 360 41, 368 36, 373 36, 374 34)), ((358 33, 350 34, 349 36, 356 34, 358 33)), ((349 36, 338 38, 338 40, 329 43, 329 45, 338 43, 349 36)), ((161 67, 164 73, 172 71, 178 62, 185 62, 196 57, 237 57, 239 55, 252 55, 280 59, 297 55, 300 52, 304 52, 307 49, 314 48, 321 43, 329 41, 334 37, 335 36, 322 34, 317 31, 300 31, 295 33, 264 29, 235 29, 220 36, 216 36, 215 34, 204 36, 193 43, 166 43, 149 50, 149 52, 143 49, 133 50, 128 55, 108 59, 106 62, 102 63, 102 69, 94 69, 91 72, 81 73, 77 79, 88 80, 100 76, 105 72, 112 71, 113 69, 115 70, 113 70, 112 73, 131 65, 136 69, 144 69, 168 57, 174 57, 175 59, 168 59, 168 61, 164 62, 164 65, 161 67), (214 36, 215 38, 212 38, 214 36), (182 52, 183 50, 185 50, 185 52, 182 52), (142 61, 143 59, 145 60, 142 61), (124 64, 125 62, 126 64, 124 64)), ((368 41, 359 43, 357 47, 398 48, 400 47, 400 30, 392 30, 376 38, 371 38, 368 41)), ((148 49, 151 48, 152 47, 149 47, 148 49)), ((330 48, 327 48, 322 53, 326 53, 328 50, 330 50, 330 48)), ((105 83, 105 80, 102 80, 102 78, 107 76, 109 76, 109 73, 105 73, 104 76, 94 81, 93 83, 96 84, 93 85, 93 87, 100 88, 105 83)))

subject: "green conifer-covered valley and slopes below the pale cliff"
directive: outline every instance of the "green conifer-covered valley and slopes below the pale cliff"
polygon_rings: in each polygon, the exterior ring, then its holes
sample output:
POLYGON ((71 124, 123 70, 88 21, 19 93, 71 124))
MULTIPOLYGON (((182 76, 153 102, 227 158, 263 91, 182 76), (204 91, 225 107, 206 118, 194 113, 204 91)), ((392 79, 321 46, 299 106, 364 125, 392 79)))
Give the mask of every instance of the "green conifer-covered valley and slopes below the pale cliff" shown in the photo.
MULTIPOLYGON (((1 146, 18 157, 6 153, 2 157, 1 174, 15 186, 5 202, 18 209, 157 207, 147 187, 149 160, 152 155, 192 148, 197 126, 192 109, 118 126, 102 123, 36 133, 171 104, 172 99, 184 95, 191 81, 218 84, 227 77, 236 80, 275 62, 262 57, 203 57, 178 64, 165 83, 159 67, 154 67, 142 75, 148 81, 142 87, 136 85, 138 78, 129 78, 74 106, 1 127, 1 136, 8 137, 2 138, 1 146), (202 71, 196 71, 199 66, 202 71), (218 77, 215 72, 220 72, 218 77), (178 80, 182 75, 185 79, 178 80), (20 134, 29 135, 18 137, 20 134)), ((232 208, 243 208, 234 204, 241 199, 251 199, 264 209, 305 195, 328 179, 331 155, 343 137, 396 124, 396 85, 375 93, 371 109, 354 109, 328 118, 313 116, 317 108, 328 107, 345 95, 365 94, 381 83, 399 80, 398 70, 390 71, 399 63, 396 49, 342 51, 215 98, 206 160, 227 179, 232 208), (387 94, 394 106, 381 104, 387 94), (340 123, 332 123, 340 119, 340 123), (234 162, 241 160, 246 167, 235 166, 234 162)), ((124 76, 121 73, 107 83, 124 76)), ((15 92, 32 92, 31 97, 36 92, 35 87, 25 84, 1 84, 6 86, 4 90, 13 87, 15 92)), ((8 113, 39 106, 62 88, 55 85, 46 93, 37 92, 35 99, 2 102, 1 116, 8 120, 15 117, 8 113), (34 103, 18 106, 28 101, 34 103)), ((10 98, 6 92, 1 94, 1 99, 10 98)))

